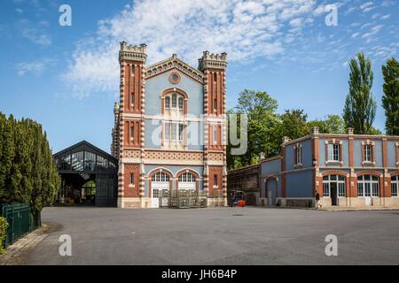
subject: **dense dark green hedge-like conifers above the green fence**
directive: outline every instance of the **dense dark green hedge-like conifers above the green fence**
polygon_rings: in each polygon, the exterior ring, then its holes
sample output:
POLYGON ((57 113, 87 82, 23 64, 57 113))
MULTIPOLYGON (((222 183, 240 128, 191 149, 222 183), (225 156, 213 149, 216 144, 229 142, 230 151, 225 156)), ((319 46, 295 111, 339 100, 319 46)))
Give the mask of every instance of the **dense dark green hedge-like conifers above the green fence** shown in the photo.
POLYGON ((42 126, 0 113, 0 203, 30 203, 34 212, 52 203, 59 173, 42 126))

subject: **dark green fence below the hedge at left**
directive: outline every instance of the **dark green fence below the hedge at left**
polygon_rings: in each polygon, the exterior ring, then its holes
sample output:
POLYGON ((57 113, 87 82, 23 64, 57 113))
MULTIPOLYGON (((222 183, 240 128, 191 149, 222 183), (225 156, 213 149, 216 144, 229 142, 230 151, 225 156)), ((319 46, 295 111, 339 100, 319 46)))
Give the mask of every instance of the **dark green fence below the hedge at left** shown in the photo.
POLYGON ((33 214, 28 203, 1 204, 1 215, 8 222, 5 247, 42 225, 40 212, 33 214))

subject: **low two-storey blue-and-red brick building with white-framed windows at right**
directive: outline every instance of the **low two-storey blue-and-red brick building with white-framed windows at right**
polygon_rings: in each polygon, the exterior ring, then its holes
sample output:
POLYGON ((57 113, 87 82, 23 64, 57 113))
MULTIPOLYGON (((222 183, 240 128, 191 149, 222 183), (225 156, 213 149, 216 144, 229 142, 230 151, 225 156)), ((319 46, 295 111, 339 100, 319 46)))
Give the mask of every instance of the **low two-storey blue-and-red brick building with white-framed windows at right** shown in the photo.
MULTIPOLYGON (((399 207, 399 136, 312 133, 262 159, 259 205, 399 207)), ((229 172, 230 176, 230 172, 229 172)))

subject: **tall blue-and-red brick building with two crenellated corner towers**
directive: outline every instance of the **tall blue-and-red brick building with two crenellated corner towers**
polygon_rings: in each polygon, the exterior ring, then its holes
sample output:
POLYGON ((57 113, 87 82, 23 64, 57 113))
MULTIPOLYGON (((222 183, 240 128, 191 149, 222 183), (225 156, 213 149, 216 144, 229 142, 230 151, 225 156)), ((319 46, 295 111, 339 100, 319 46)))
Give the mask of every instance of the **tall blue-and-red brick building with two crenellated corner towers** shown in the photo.
POLYGON ((161 195, 179 190, 224 205, 226 54, 204 51, 198 68, 176 54, 148 66, 146 58, 145 44, 121 42, 111 146, 118 207, 159 207, 161 195))

